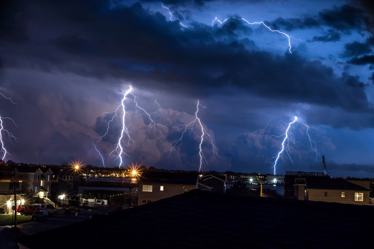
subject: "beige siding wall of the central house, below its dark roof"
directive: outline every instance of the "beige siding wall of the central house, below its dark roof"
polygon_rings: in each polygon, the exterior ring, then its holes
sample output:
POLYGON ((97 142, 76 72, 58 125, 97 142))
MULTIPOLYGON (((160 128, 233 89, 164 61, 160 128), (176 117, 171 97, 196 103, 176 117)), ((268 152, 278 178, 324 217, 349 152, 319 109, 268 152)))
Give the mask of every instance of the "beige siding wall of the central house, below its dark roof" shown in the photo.
POLYGON ((174 195, 183 194, 183 187, 187 187, 187 191, 196 189, 196 185, 139 182, 138 206, 145 204, 145 203, 141 203, 142 200, 158 201, 163 198, 168 198, 174 195), (152 192, 144 192, 143 185, 152 185, 152 192), (160 186, 163 186, 163 191, 160 191, 160 186))

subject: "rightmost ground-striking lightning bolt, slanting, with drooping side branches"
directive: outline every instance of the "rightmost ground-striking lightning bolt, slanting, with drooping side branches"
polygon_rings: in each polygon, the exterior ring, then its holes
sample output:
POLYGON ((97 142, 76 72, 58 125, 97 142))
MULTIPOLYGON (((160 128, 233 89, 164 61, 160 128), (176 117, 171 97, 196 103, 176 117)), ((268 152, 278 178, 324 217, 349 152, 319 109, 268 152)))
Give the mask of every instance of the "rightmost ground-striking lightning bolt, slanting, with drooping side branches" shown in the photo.
MULTIPOLYGON (((281 116, 281 115, 277 115, 277 116, 275 116, 275 117, 278 117, 278 116, 281 116)), ((275 117, 274 117, 274 118, 275 118, 275 117)), ((281 117, 282 117, 282 116, 281 116, 281 117)), ((274 119, 274 118, 272 118, 272 119, 274 119)), ((272 119, 270 119, 270 121, 271 121, 272 119)), ((293 144, 294 144, 294 146, 297 148, 297 145, 296 145, 296 143, 295 143, 295 135, 292 133, 292 128, 291 128, 291 127, 293 127, 294 123, 295 123, 296 121, 298 121, 298 120, 301 120, 301 121, 302 121, 301 118, 298 118, 297 116, 295 116, 294 121, 292 121, 292 122, 286 124, 285 122, 282 121, 282 118, 281 118, 281 121, 279 121, 279 123, 280 123, 280 122, 283 122, 283 123, 287 126, 287 129, 286 129, 285 133, 281 134, 280 136, 275 136, 275 135, 270 135, 270 136, 269 136, 269 135, 265 135, 265 136, 268 136, 268 137, 276 137, 276 138, 279 138, 279 137, 285 136, 285 138, 283 139, 283 142, 282 142, 281 151, 278 152, 278 155, 277 155, 276 157, 273 157, 273 158, 272 158, 272 159, 275 158, 275 162, 274 162, 274 165, 273 165, 273 167, 274 167, 274 174, 275 174, 275 171, 276 171, 276 166, 277 166, 277 163, 278 163, 279 157, 282 157, 282 158, 283 158, 283 152, 284 152, 284 151, 286 151, 286 153, 287 153, 289 159, 291 160, 292 164, 294 163, 294 161, 292 160, 291 155, 290 155, 291 151, 290 151, 290 149, 289 149, 289 140, 290 140, 290 136, 292 136, 292 138, 293 138, 293 144), (286 142, 287 142, 287 144, 285 144, 286 142)), ((269 122, 270 122, 270 121, 269 121, 269 122)), ((269 122, 266 124, 266 127, 269 125, 269 122)), ((314 151, 314 152, 316 153, 316 161, 317 161, 317 156, 319 155, 319 153, 318 153, 318 151, 317 151, 317 144, 316 144, 315 141, 313 141, 313 140, 310 138, 310 134, 309 134, 309 130, 312 129, 312 127, 310 127, 309 125, 307 125, 305 122, 302 122, 302 124, 303 124, 303 125, 306 127, 306 129, 307 129, 307 130, 306 130, 306 134, 308 135, 308 139, 309 139, 309 142, 310 142, 310 150, 309 150, 309 152, 310 152, 310 151, 314 151), (314 144, 314 146, 313 146, 313 144, 314 144)), ((266 127, 265 127, 265 128, 266 128, 266 127)), ((264 129, 258 129, 257 131, 259 131, 259 130, 265 130, 265 128, 264 128, 264 129)), ((257 131, 255 131, 254 135, 257 133, 257 131)))

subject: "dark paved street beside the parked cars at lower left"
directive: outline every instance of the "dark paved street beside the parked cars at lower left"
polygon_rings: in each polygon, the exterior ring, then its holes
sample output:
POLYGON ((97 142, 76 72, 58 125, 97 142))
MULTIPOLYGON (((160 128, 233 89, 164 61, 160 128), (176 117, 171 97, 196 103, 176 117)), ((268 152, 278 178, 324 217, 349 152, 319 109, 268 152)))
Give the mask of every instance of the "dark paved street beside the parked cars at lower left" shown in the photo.
MULTIPOLYGON (((30 221, 19 224, 18 227, 27 234, 40 233, 53 228, 62 227, 74 222, 81 222, 89 219, 93 213, 108 213, 107 210, 83 210, 78 212, 77 221, 75 221, 75 212, 64 215, 53 215, 46 221, 30 221)), ((0 227, 1 230, 1 227, 0 227)))

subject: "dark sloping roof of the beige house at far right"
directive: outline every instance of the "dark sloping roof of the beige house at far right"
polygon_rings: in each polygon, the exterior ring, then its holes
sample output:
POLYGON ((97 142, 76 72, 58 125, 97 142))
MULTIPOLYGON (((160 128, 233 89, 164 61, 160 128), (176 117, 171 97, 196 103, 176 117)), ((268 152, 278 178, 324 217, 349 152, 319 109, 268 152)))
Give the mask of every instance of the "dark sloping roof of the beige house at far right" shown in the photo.
POLYGON ((340 178, 329 177, 306 177, 306 188, 308 189, 336 189, 336 190, 358 190, 370 191, 370 189, 356 185, 340 178))

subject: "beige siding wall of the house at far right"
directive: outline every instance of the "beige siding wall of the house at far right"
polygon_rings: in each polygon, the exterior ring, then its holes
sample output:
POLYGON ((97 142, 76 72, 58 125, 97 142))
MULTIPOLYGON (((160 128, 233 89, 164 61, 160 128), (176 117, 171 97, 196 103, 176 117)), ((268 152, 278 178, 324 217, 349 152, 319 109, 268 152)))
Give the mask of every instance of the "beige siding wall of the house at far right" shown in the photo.
POLYGON ((308 189, 308 200, 368 205, 369 194, 370 192, 362 190, 308 189), (327 192, 327 196, 325 196, 325 192, 327 192), (345 193, 345 197, 341 197, 341 192, 345 193), (355 201, 355 192, 364 193, 364 201, 355 201))

